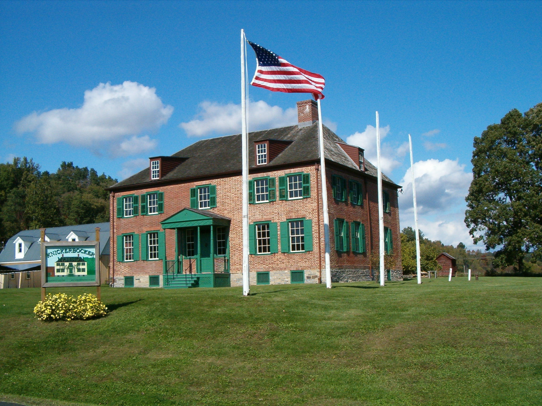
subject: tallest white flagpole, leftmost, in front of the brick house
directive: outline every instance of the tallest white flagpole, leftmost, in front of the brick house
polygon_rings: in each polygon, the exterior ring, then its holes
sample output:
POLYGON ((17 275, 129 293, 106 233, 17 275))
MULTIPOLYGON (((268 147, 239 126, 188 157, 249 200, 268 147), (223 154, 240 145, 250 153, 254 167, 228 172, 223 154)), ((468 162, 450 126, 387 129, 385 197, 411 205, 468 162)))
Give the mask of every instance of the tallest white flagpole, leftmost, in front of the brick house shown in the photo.
POLYGON ((248 135, 247 135, 247 95, 244 75, 244 45, 246 38, 241 30, 241 155, 243 162, 243 296, 250 294, 250 274, 248 266, 248 135))

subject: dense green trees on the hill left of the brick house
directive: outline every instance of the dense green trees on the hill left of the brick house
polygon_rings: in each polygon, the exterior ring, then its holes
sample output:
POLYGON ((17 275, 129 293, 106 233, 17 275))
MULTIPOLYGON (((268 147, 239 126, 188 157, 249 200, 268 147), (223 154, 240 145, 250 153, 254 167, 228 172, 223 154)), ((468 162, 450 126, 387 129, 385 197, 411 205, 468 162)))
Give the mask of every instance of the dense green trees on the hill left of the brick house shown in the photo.
POLYGON ((73 162, 62 161, 55 173, 26 157, 0 163, 0 241, 22 230, 109 221, 105 188, 115 183, 73 162))

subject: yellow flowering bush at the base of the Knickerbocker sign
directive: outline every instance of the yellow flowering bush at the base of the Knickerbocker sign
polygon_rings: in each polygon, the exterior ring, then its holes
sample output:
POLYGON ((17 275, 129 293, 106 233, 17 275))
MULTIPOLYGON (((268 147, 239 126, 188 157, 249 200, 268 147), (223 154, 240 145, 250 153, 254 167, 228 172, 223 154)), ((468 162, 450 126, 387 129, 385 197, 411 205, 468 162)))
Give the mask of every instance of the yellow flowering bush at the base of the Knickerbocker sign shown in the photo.
POLYGON ((77 298, 66 293, 49 293, 45 300, 34 307, 38 320, 87 320, 106 315, 107 307, 91 293, 80 294, 77 298))

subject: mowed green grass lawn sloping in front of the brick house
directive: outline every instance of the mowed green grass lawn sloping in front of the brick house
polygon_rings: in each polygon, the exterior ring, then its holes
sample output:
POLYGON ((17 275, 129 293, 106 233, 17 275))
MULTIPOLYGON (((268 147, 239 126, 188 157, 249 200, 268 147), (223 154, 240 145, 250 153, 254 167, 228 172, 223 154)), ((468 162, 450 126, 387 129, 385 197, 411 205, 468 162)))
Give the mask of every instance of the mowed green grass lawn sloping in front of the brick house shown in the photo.
POLYGON ((96 405, 542 404, 542 278, 241 292, 102 288, 107 317, 43 323, 40 290, 1 290, 0 393, 96 405))

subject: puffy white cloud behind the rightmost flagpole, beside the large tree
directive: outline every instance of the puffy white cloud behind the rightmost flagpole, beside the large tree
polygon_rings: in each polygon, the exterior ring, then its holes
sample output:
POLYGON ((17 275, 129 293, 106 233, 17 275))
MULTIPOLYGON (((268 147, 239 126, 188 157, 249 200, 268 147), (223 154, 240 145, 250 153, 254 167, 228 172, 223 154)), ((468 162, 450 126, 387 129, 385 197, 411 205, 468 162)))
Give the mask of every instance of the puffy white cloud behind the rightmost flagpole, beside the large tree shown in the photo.
MULTIPOLYGON (((459 160, 428 159, 414 163, 418 214, 453 209, 468 193, 472 173, 465 172, 459 160)), ((404 193, 399 194, 399 207, 412 211, 412 172, 408 168, 401 182, 404 193)))

